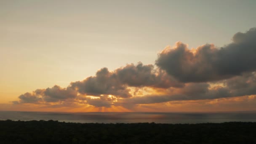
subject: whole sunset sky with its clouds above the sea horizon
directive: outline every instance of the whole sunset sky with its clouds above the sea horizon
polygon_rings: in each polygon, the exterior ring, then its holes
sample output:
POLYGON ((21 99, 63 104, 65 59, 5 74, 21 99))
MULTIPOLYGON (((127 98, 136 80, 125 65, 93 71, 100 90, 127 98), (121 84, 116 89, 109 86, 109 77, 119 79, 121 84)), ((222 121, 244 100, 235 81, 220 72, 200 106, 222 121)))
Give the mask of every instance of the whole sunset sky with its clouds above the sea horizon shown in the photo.
POLYGON ((256 110, 255 0, 1 0, 0 110, 256 110))

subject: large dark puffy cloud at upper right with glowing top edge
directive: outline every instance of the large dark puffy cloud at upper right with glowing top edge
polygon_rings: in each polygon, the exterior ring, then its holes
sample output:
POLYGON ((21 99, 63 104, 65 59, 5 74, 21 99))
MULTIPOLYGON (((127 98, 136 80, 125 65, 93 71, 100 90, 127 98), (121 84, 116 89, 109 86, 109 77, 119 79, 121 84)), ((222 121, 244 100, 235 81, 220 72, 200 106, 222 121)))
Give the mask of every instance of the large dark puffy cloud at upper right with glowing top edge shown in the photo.
POLYGON ((195 50, 178 42, 158 55, 156 65, 184 83, 224 80, 256 70, 256 28, 238 32, 232 40, 222 48, 206 44, 195 50))

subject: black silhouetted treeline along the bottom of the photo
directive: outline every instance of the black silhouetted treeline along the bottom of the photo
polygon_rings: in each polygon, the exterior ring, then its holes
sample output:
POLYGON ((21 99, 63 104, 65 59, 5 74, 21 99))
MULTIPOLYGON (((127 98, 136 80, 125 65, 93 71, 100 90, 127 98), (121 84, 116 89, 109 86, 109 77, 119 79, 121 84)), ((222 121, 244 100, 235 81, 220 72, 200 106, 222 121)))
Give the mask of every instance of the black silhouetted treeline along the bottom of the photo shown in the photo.
POLYGON ((256 144, 256 123, 64 123, 0 120, 0 144, 256 144))

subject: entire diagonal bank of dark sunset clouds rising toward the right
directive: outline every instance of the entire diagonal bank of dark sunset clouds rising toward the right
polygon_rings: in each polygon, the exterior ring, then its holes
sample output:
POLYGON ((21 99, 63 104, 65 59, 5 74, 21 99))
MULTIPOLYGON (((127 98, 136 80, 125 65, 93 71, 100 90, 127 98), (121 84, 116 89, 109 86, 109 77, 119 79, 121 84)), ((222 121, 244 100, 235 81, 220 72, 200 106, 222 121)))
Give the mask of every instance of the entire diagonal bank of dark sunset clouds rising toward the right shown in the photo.
POLYGON ((137 104, 255 95, 255 54, 256 28, 235 34, 233 42, 223 48, 206 44, 189 50, 187 45, 178 42, 175 48, 165 48, 159 54, 158 67, 139 62, 114 71, 102 68, 95 76, 70 83, 67 88, 54 85, 24 93, 13 104, 131 108, 137 104), (151 91, 162 94, 143 96, 143 92, 151 91))

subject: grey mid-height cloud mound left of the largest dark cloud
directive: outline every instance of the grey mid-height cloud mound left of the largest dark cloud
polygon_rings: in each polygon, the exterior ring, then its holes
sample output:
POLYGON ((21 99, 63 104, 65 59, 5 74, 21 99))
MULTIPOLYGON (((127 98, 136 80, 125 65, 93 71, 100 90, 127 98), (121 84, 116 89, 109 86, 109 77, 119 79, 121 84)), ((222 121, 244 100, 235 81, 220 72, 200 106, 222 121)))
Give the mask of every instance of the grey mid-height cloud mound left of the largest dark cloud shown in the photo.
POLYGON ((141 62, 137 65, 128 64, 113 72, 109 72, 107 68, 102 68, 94 77, 71 83, 71 86, 77 88, 77 91, 82 94, 92 96, 115 95, 122 98, 132 96, 128 86, 169 88, 182 87, 183 85, 165 72, 154 69, 153 65, 143 65, 141 62))

